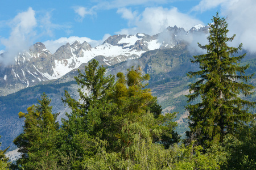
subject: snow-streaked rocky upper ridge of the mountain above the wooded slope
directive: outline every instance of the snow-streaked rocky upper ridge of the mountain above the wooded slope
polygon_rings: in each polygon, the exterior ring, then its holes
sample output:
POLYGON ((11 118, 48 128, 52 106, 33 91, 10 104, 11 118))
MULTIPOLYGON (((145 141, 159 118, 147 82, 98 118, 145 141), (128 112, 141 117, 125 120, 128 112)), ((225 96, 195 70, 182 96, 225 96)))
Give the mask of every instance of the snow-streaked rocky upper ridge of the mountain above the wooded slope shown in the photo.
POLYGON ((54 54, 42 42, 37 42, 29 50, 20 52, 14 65, 0 70, 0 94, 11 94, 40 82, 59 79, 94 57, 101 58, 104 65, 112 66, 127 59, 139 58, 148 50, 173 48, 189 34, 207 30, 203 25, 195 25, 189 31, 175 26, 153 36, 144 33, 114 35, 95 48, 86 41, 75 41, 60 46, 54 54))

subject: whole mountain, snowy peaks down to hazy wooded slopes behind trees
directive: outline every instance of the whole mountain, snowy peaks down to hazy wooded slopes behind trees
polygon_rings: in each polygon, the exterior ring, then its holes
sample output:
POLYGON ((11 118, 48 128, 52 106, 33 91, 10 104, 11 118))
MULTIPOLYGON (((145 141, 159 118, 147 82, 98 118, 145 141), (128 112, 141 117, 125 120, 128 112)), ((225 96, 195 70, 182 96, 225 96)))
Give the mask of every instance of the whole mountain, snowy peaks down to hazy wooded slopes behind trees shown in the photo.
MULTIPOLYGON (((1 147, 11 145, 14 148, 12 141, 22 132, 23 125, 18 113, 36 104, 43 92, 52 99, 53 113, 60 113, 58 120, 65 117, 69 109, 61 101, 64 90, 78 99, 73 76, 93 58, 100 65, 108 66, 107 74, 113 75, 125 72, 132 65, 140 65, 144 73, 150 74, 148 87, 158 96, 163 111, 179 112, 177 121, 184 128, 184 94, 188 88, 185 74, 197 69, 189 61, 192 56, 186 40, 207 31, 208 27, 196 25, 189 31, 168 27, 153 36, 144 33, 114 35, 95 48, 88 42, 75 41, 60 46, 53 54, 42 42, 37 42, 29 50, 20 52, 14 65, 0 69, 1 147)), ((180 133, 183 132, 184 129, 180 133)))

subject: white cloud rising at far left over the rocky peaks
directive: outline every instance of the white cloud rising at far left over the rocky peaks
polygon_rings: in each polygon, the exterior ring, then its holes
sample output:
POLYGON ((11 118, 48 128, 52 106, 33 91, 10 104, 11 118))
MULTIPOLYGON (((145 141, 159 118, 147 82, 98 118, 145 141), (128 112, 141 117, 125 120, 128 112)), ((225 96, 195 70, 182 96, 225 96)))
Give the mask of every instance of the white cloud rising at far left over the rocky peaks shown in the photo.
POLYGON ((0 57, 0 63, 4 66, 13 64, 19 52, 27 50, 39 37, 53 37, 56 29, 66 31, 65 29, 71 28, 69 25, 52 23, 50 11, 37 18, 36 14, 38 13, 29 7, 7 22, 11 28, 10 36, 0 39, 1 45, 5 46, 5 53, 0 57))

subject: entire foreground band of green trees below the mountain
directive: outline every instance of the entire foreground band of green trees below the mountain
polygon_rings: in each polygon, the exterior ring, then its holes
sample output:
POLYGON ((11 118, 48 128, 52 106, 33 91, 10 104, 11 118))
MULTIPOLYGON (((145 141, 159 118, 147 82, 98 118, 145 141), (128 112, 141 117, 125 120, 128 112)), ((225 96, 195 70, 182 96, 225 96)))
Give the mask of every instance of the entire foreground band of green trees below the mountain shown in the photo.
POLYGON ((247 81, 254 73, 240 65, 245 54, 236 56, 242 44, 228 46, 235 35, 227 36, 225 18, 217 13, 212 22, 209 44, 199 44, 207 53, 191 59, 200 70, 187 74, 196 80, 185 139, 175 131, 176 113, 162 114, 140 67, 105 76, 93 59, 75 77, 80 99, 64 92, 71 113, 61 125, 45 93, 19 112, 23 133, 13 142, 22 157, 11 164, 1 150, 0 169, 256 169, 255 101, 241 97, 253 95, 247 81))

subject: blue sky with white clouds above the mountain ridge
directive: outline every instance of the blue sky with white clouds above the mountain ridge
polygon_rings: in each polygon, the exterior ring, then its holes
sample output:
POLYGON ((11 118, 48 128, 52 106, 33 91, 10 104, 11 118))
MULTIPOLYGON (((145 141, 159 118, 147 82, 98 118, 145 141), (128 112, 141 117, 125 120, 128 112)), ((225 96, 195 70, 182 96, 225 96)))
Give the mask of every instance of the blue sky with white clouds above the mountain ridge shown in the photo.
POLYGON ((174 25, 188 31, 212 23, 216 12, 226 18, 230 36, 236 33, 233 45, 242 42, 254 53, 255 9, 255 0, 1 0, 0 53, 15 56, 36 42, 54 53, 75 40, 97 46, 112 35, 155 35, 174 25))

